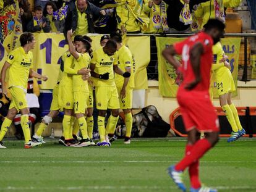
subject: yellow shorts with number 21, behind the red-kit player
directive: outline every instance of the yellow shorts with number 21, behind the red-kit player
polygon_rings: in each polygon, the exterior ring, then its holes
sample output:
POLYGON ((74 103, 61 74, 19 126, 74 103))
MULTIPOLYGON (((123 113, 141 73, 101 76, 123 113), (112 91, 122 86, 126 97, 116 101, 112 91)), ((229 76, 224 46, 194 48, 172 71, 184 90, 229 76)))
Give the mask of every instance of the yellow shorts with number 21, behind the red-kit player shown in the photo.
POLYGON ((236 91, 236 86, 234 85, 232 73, 228 68, 221 67, 220 69, 216 70, 215 75, 216 86, 219 96, 236 91))

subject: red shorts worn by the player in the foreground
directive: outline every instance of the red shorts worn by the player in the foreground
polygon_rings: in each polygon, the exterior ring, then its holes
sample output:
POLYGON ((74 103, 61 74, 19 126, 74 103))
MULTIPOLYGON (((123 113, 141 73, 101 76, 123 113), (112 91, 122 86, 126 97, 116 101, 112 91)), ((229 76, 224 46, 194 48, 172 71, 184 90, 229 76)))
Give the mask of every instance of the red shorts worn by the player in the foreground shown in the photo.
POLYGON ((186 131, 197 128, 199 132, 215 132, 220 130, 218 116, 211 104, 208 93, 179 92, 177 94, 182 119, 186 131))

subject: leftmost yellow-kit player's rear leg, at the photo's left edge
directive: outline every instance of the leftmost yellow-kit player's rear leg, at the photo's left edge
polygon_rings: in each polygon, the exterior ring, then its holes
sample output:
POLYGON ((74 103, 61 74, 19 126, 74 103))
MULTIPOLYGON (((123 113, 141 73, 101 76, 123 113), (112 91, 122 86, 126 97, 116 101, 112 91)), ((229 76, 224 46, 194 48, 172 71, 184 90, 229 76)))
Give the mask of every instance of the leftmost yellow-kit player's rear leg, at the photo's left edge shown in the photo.
POLYGON ((2 140, 4 138, 4 136, 6 135, 8 128, 11 126, 12 124, 12 120, 14 119, 15 115, 17 114, 17 109, 15 109, 15 107, 12 105, 10 105, 10 109, 8 110, 7 116, 4 119, 4 122, 2 122, 2 126, 1 126, 1 131, 0 131, 0 149, 5 149, 6 146, 4 146, 4 144, 2 143, 2 140))

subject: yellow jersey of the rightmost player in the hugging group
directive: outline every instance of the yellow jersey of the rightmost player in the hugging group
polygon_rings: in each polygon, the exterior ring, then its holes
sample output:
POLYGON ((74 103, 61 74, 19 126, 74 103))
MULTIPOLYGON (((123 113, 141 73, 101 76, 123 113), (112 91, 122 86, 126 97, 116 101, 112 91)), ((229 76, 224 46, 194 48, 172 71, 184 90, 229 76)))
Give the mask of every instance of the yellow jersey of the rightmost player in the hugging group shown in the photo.
MULTIPOLYGON (((127 87, 134 88, 134 72, 135 72, 135 63, 133 62, 132 58, 132 52, 130 52, 130 49, 127 48, 127 46, 123 45, 118 51, 118 59, 117 64, 118 67, 122 71, 126 71, 126 67, 130 67, 130 78, 129 83, 127 87)), ((124 84, 124 77, 121 75, 115 74, 114 81, 116 83, 116 87, 122 88, 122 85, 124 84)))

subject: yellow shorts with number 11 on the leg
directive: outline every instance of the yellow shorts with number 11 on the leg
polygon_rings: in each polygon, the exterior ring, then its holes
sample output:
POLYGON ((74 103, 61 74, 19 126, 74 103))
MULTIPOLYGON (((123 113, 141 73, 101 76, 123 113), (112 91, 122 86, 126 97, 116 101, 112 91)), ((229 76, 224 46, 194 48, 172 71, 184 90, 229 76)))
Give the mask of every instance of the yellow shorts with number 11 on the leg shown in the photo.
POLYGON ((74 113, 84 114, 85 109, 87 109, 87 100, 89 97, 89 92, 74 92, 74 113))

